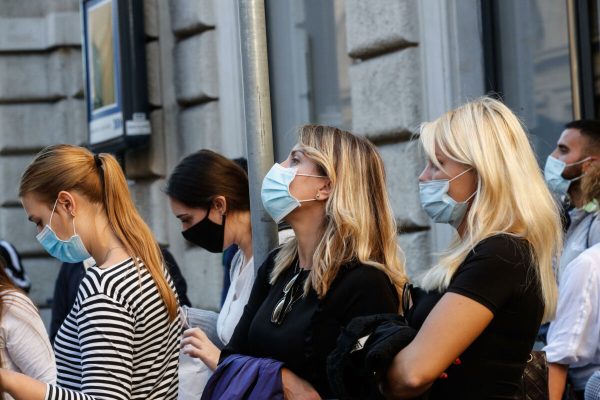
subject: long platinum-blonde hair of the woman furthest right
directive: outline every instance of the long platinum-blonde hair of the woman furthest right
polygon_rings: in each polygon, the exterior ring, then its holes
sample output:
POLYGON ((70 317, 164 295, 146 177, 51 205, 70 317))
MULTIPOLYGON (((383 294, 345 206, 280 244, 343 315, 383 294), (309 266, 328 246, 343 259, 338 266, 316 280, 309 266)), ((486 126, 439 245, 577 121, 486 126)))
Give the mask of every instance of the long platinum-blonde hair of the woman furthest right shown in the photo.
POLYGON ((529 243, 545 304, 544 320, 552 318, 558 296, 552 262, 562 247, 560 213, 519 119, 500 101, 482 97, 423 124, 420 138, 438 168, 443 170, 435 156, 436 146, 478 176, 463 237, 457 237, 442 254, 421 286, 446 289, 479 242, 499 233, 510 234, 529 243))

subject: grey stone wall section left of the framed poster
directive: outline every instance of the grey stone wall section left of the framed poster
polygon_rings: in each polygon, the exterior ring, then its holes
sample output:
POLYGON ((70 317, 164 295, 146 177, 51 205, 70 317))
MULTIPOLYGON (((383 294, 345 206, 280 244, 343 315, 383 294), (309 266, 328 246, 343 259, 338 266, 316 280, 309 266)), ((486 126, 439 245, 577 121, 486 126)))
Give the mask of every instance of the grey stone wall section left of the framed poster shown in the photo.
POLYGON ((21 253, 46 321, 59 263, 36 241, 18 184, 44 146, 86 140, 79 25, 77 0, 0 7, 0 237, 21 253))

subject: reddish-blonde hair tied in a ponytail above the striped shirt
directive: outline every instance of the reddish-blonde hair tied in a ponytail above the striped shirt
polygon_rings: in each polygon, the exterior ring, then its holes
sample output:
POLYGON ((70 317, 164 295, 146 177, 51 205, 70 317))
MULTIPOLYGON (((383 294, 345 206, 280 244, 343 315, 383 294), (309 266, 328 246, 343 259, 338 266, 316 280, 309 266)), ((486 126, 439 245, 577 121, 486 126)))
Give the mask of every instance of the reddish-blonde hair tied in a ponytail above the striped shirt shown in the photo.
MULTIPOLYGON (((110 228, 137 264, 138 257, 156 283, 169 318, 177 316, 177 297, 167 282, 158 243, 139 215, 125 175, 108 153, 94 157, 89 150, 54 145, 42 150, 21 177, 19 196, 34 193, 50 207, 61 190, 74 190, 106 212, 110 228)), ((138 265, 139 267, 139 265, 138 265)))

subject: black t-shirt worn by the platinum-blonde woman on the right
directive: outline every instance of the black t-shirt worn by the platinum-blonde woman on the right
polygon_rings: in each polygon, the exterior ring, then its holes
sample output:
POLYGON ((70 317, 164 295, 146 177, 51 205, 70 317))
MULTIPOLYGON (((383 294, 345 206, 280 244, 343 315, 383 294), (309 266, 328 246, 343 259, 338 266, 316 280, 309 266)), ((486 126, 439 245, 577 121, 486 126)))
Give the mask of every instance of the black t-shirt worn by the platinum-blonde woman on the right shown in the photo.
MULTIPOLYGON (((475 300, 494 318, 460 356, 461 364, 434 383, 430 399, 520 398, 521 375, 544 313, 530 254, 524 240, 497 235, 480 242, 460 265, 446 292, 475 300)), ((408 315, 411 326, 420 328, 442 295, 418 296, 408 315)))

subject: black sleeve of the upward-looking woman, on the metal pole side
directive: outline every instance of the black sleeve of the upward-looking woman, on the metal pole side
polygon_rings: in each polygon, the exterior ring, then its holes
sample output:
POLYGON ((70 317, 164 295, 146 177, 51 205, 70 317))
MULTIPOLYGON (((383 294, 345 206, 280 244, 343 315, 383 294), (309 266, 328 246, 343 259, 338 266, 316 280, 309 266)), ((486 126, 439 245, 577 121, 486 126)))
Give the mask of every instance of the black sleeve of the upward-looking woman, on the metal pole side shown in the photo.
POLYGON ((252 286, 252 292, 248 299, 248 304, 244 307, 242 318, 235 327, 231 340, 221 351, 219 363, 232 354, 247 354, 248 353, 248 331, 250 324, 256 315, 256 312, 267 297, 271 284, 269 283, 269 275, 273 269, 274 253, 260 266, 256 275, 256 280, 252 286))

